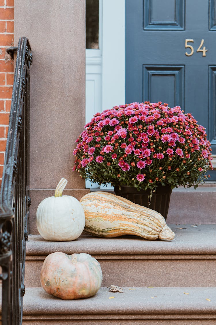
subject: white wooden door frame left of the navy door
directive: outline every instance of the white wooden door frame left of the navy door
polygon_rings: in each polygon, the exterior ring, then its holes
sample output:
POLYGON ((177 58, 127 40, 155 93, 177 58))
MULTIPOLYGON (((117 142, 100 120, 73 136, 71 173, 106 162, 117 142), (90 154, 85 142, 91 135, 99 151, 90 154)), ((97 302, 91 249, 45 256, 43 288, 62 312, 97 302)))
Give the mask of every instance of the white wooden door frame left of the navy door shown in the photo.
POLYGON ((85 51, 87 123, 95 113, 125 104, 125 0, 99 0, 99 49, 85 51))

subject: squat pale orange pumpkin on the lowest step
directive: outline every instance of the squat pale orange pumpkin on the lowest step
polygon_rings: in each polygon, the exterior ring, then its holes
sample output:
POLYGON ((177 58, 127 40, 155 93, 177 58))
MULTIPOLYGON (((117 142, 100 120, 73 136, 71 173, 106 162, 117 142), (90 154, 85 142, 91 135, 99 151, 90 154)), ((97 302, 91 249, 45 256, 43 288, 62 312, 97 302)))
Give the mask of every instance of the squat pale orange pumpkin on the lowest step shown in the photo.
POLYGON ((48 255, 40 273, 42 288, 64 300, 91 297, 102 282, 100 264, 86 253, 48 255))

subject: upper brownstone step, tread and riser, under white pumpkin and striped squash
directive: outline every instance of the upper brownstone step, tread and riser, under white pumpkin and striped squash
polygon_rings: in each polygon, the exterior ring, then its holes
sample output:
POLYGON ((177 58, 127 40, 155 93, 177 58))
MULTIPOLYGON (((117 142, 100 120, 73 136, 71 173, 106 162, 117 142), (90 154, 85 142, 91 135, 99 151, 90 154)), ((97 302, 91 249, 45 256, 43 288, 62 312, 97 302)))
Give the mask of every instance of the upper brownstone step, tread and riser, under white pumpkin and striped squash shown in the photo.
MULTIPOLYGON (((26 287, 40 287, 40 270, 53 252, 89 253, 102 268, 102 286, 216 287, 216 225, 170 225, 172 241, 137 236, 97 238, 83 233, 68 242, 30 235, 26 250, 26 287)), ((216 306, 215 306, 216 308, 216 306)))

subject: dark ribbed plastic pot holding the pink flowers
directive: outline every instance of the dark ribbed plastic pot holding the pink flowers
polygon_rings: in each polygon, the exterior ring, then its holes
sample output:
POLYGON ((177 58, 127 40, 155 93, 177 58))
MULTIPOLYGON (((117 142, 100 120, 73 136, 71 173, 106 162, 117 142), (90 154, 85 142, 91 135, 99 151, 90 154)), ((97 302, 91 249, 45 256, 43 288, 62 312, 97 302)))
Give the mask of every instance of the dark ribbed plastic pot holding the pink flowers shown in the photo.
POLYGON ((172 189, 170 186, 158 186, 156 187, 156 191, 152 193, 151 204, 150 194, 151 189, 148 188, 146 191, 138 191, 136 188, 129 186, 114 186, 114 191, 116 195, 119 195, 133 203, 140 204, 152 210, 155 210, 163 215, 166 220, 168 209, 169 209, 169 201, 170 195, 172 193, 172 189))

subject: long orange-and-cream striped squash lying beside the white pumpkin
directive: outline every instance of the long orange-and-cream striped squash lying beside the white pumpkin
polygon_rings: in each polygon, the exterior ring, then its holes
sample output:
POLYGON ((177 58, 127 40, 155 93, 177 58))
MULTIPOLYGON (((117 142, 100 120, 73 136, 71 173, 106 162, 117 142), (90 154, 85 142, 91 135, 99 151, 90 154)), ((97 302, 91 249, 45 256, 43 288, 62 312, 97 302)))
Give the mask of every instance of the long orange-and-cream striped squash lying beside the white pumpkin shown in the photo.
POLYGON ((85 231, 97 237, 137 235, 145 239, 172 240, 175 233, 164 217, 149 208, 108 192, 91 192, 80 200, 85 231))

